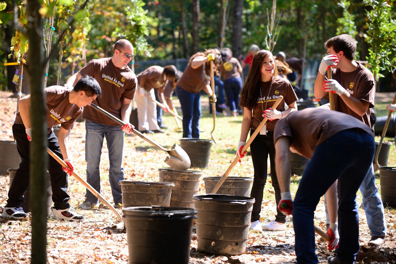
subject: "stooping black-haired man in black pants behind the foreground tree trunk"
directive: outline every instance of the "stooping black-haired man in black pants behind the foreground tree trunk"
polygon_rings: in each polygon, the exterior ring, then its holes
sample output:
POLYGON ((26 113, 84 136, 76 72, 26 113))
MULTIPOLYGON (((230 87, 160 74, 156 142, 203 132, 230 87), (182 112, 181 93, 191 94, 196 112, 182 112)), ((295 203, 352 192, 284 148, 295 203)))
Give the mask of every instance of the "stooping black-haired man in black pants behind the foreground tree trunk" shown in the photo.
MULTIPOLYGON (((80 222, 84 220, 84 216, 76 214, 74 209, 71 209, 70 196, 67 193, 68 174, 73 173, 67 134, 73 128, 83 107, 89 106, 97 96, 101 96, 101 88, 94 78, 86 76, 81 78, 72 89, 50 86, 44 89, 44 92, 47 98, 48 147, 60 158, 63 158, 63 161, 69 166, 69 168, 64 168, 54 158, 49 157, 48 171, 54 203, 49 217, 80 222), (61 125, 58 132, 59 142, 52 129, 52 126, 57 124, 61 125)), ((29 217, 21 205, 25 201, 24 195, 29 186, 29 141, 32 140, 30 95, 21 98, 18 103, 19 112, 12 126, 12 132, 17 143, 18 153, 21 156, 21 163, 15 173, 8 192, 7 205, 2 213, 3 218, 9 219, 27 219, 29 217)), ((35 139, 33 138, 33 140, 35 139)))

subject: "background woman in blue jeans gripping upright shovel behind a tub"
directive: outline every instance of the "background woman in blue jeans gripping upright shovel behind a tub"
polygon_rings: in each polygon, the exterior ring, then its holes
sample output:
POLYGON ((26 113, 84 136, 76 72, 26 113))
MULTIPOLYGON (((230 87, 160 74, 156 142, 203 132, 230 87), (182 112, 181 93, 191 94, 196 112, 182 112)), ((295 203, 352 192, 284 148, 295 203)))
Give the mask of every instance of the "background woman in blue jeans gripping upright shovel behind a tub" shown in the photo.
POLYGON ((199 138, 199 119, 201 117, 201 91, 204 90, 215 100, 210 83, 210 61, 214 70, 221 65, 218 49, 209 49, 191 56, 183 75, 176 83, 176 93, 183 113, 183 138, 199 138))

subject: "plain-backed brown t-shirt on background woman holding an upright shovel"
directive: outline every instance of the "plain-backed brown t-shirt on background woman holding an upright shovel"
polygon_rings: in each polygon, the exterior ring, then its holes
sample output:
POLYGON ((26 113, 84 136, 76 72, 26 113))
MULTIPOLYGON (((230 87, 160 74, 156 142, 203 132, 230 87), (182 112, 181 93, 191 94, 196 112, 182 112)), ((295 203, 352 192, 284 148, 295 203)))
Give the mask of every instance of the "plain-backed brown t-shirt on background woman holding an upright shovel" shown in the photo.
POLYGON ((204 89, 205 85, 209 84, 209 79, 206 79, 205 65, 202 64, 196 69, 191 67, 191 62, 188 63, 186 70, 177 81, 176 85, 187 92, 197 93, 204 89))

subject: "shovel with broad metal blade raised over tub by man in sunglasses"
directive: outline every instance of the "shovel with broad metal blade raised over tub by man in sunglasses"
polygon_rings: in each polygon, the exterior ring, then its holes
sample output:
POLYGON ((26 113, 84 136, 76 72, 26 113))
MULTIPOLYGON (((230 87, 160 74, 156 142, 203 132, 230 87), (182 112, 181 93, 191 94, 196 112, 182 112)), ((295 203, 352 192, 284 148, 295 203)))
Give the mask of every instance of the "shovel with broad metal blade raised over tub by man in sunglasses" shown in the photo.
MULTIPOLYGON (((123 121, 121 121, 120 119, 118 119, 114 115, 110 114, 109 112, 103 110, 99 106, 97 106, 95 104, 91 104, 90 106, 93 107, 93 109, 103 113, 104 115, 109 117, 114 122, 117 122, 121 126, 123 126, 125 124, 123 121)), ((136 129, 132 129, 132 132, 134 134, 136 134, 137 136, 139 136, 140 138, 143 138, 143 140, 147 141, 148 143, 150 143, 154 147, 156 147, 156 148, 168 153, 169 157, 166 157, 164 161, 171 168, 173 168, 175 170, 187 170, 187 169, 190 168, 190 166, 191 166, 190 158, 188 157, 188 155, 184 151, 184 149, 182 149, 179 145, 173 144, 172 149, 168 150, 168 149, 162 147, 161 145, 159 145, 158 143, 155 143, 154 141, 149 140, 148 138, 143 136, 143 134, 140 133, 139 131, 137 131, 136 129)))

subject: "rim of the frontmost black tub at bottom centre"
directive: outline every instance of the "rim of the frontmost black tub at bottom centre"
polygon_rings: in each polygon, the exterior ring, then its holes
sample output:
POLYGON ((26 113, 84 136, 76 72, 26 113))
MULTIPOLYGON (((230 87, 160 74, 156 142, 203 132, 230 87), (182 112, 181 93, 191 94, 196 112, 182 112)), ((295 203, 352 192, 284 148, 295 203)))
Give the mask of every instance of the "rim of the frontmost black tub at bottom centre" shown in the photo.
POLYGON ((194 217, 195 209, 187 207, 131 206, 122 209, 122 217, 194 217))

